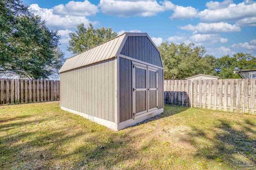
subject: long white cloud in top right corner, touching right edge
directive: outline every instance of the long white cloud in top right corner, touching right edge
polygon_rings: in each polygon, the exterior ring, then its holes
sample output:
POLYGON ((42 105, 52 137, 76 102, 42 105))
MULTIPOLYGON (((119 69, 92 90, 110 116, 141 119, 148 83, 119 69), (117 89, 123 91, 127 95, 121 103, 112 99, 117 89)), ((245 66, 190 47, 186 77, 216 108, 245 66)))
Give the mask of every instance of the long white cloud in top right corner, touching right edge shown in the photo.
POLYGON ((199 18, 206 22, 239 20, 256 15, 256 3, 245 1, 239 4, 229 4, 224 8, 205 9, 198 13, 199 18))

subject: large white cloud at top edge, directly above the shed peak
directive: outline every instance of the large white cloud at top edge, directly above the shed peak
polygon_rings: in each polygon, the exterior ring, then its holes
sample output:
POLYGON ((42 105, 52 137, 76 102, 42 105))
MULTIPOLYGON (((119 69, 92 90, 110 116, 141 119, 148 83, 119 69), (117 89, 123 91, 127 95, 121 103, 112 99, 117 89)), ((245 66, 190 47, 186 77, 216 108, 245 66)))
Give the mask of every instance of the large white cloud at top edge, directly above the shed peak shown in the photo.
POLYGON ((164 11, 164 7, 155 0, 100 0, 99 6, 105 14, 123 17, 154 16, 164 11))

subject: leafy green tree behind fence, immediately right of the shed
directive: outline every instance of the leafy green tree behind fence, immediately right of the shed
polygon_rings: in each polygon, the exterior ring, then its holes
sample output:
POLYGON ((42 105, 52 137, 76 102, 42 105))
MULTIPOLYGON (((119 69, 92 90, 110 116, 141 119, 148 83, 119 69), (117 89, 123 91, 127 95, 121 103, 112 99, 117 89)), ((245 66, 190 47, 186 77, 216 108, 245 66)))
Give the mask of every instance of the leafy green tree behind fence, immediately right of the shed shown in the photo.
POLYGON ((194 44, 162 43, 159 46, 164 64, 164 79, 185 79, 196 74, 214 75, 215 57, 194 44))

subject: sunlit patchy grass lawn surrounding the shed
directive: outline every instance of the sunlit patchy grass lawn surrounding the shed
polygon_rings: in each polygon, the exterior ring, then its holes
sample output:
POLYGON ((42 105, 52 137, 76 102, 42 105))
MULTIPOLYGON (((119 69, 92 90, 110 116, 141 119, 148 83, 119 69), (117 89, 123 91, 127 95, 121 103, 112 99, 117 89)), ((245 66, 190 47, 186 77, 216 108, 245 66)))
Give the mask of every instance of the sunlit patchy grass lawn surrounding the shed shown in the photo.
POLYGON ((255 115, 165 106, 114 132, 58 102, 0 107, 0 169, 255 168, 255 115))

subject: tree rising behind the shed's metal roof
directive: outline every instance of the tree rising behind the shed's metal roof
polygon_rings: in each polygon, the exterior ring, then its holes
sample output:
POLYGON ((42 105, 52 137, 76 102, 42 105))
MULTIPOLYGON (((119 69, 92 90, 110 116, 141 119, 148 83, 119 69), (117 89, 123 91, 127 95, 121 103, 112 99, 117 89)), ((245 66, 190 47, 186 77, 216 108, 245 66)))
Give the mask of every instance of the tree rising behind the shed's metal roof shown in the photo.
POLYGON ((113 32, 111 28, 97 28, 95 29, 92 24, 89 27, 85 27, 83 23, 77 26, 75 32, 69 33, 69 52, 74 54, 81 53, 84 50, 97 46, 104 41, 117 36, 116 32, 113 32))

